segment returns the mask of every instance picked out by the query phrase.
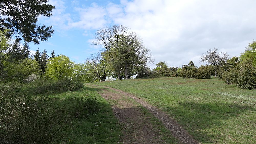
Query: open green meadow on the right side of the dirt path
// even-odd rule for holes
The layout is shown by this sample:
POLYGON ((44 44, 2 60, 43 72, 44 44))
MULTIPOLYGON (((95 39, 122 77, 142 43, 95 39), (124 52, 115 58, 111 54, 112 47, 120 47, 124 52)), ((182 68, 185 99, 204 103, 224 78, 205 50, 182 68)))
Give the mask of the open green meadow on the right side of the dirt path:
POLYGON ((256 90, 217 78, 154 78, 94 83, 117 88, 174 117, 201 143, 256 143, 256 90))

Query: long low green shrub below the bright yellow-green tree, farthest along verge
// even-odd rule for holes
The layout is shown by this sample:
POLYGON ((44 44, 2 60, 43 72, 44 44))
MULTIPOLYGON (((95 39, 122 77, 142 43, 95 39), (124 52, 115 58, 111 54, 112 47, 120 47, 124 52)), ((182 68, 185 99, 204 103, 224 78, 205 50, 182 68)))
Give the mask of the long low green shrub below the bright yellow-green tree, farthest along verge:
POLYGON ((78 79, 63 78, 57 81, 41 79, 27 84, 28 93, 49 94, 52 92, 74 91, 83 87, 83 83, 78 79))

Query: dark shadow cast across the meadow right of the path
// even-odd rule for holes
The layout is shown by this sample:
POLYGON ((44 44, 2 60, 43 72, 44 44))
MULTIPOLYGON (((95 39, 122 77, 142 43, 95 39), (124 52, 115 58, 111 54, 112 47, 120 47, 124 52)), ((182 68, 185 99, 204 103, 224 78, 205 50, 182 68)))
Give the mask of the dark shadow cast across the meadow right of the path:
POLYGON ((221 120, 237 117, 255 108, 248 105, 233 103, 195 103, 181 102, 177 107, 162 107, 165 111, 171 111, 179 123, 185 125, 187 130, 196 139, 203 143, 216 142, 221 135, 221 131, 204 132, 208 128, 219 129, 224 125, 221 120))

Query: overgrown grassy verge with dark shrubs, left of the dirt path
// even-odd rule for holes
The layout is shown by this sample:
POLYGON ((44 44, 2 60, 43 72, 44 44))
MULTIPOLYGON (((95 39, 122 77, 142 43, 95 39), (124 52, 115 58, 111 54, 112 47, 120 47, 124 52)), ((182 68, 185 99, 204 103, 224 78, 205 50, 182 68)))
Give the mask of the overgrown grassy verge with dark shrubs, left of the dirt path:
POLYGON ((67 82, 0 85, 0 143, 118 143, 121 125, 100 89, 67 82))

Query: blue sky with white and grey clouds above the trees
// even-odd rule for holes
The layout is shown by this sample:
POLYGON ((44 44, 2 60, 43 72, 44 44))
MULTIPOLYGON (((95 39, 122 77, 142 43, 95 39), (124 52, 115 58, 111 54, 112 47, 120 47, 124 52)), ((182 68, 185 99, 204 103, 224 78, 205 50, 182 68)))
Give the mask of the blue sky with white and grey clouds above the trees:
POLYGON ((159 61, 182 67, 192 60, 198 67, 207 50, 218 48, 230 57, 240 56, 256 39, 255 0, 50 0, 51 17, 38 23, 52 25, 55 33, 40 45, 47 53, 68 56, 83 63, 101 47, 91 45, 95 32, 103 27, 125 25, 142 38, 151 50, 155 68, 159 61))

